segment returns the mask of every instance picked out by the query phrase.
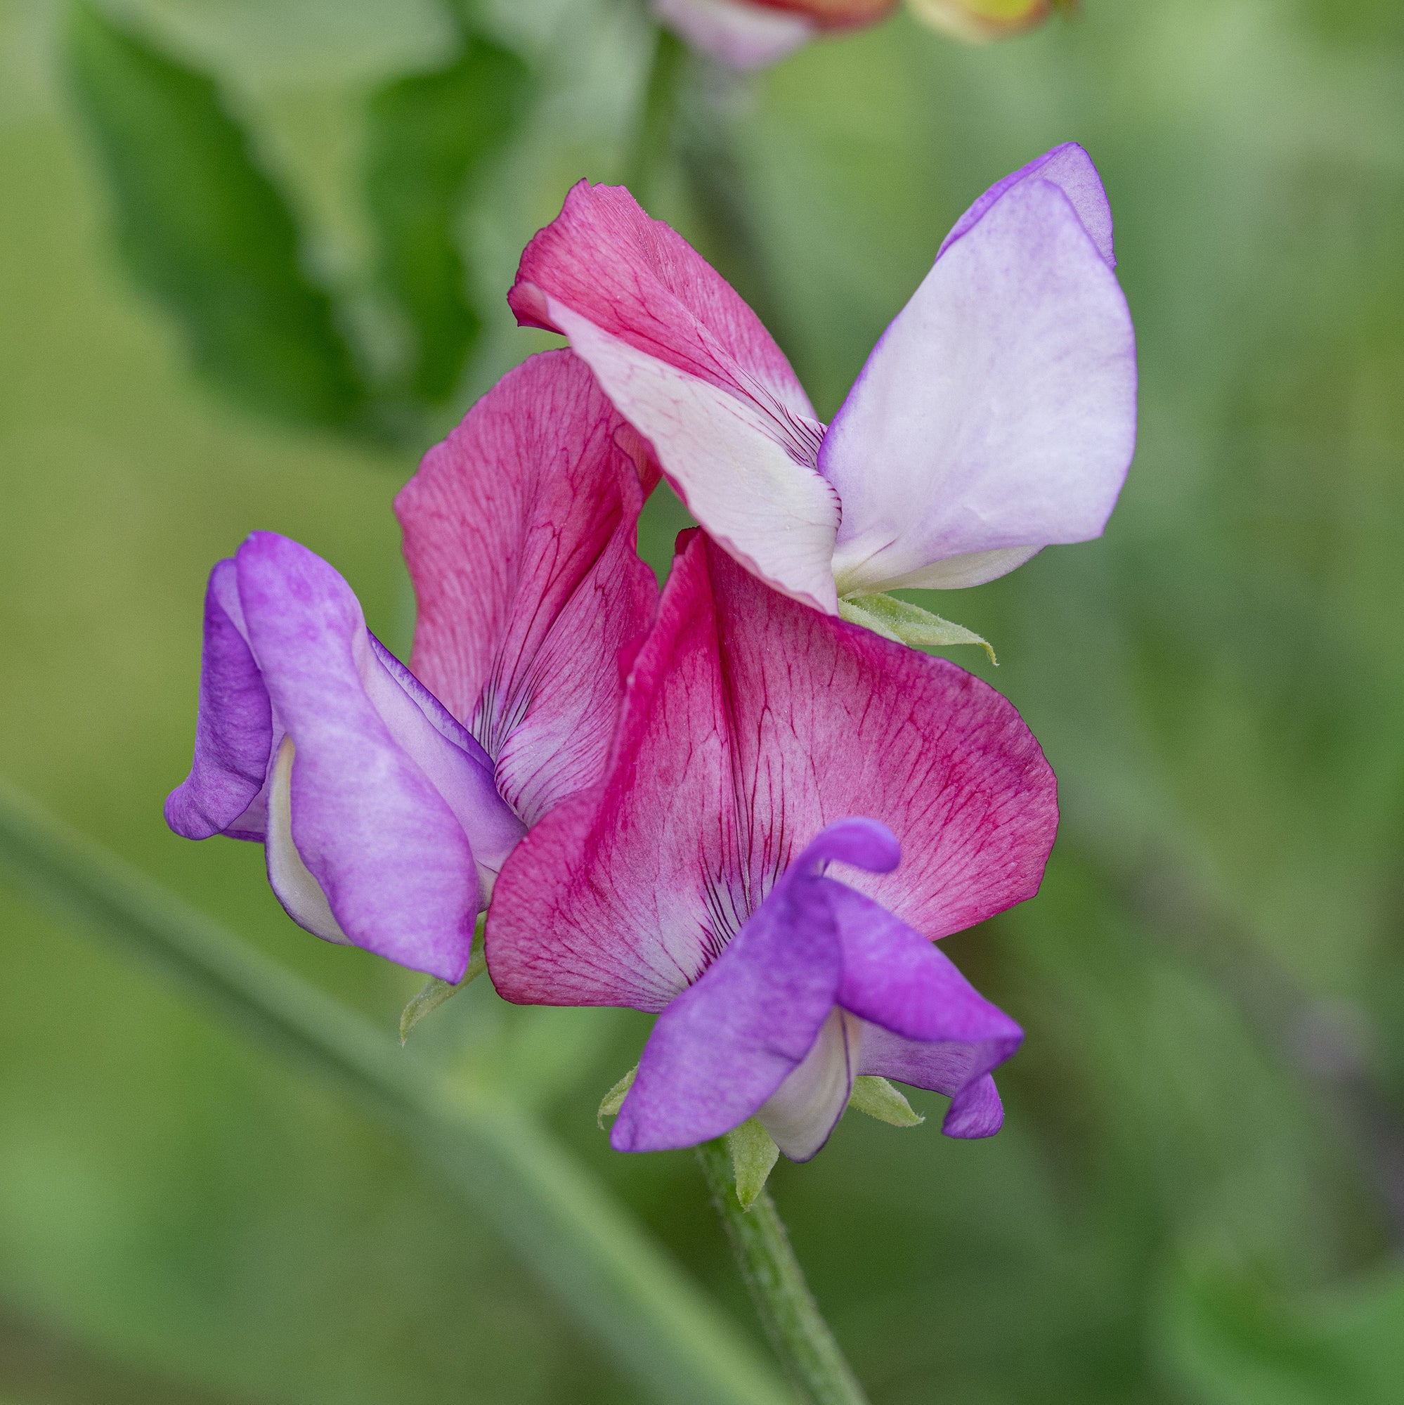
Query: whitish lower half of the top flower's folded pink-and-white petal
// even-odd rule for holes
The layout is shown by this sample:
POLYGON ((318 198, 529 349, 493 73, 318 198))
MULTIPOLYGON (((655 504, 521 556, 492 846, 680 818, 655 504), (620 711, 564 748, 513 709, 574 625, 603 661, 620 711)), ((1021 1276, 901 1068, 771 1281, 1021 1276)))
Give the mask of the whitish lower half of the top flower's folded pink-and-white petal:
POLYGON ((717 545, 776 590, 838 614, 839 504, 801 461, 805 426, 637 351, 554 299, 548 309, 717 545))

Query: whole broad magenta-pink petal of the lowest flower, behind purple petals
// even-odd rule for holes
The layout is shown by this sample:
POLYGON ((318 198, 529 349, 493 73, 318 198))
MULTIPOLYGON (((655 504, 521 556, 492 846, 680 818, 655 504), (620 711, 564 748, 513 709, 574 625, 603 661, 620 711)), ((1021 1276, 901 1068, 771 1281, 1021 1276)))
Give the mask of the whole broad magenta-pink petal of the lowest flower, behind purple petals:
POLYGON ((1032 896, 1057 828, 1019 714, 942 659, 770 592, 686 540, 604 783, 502 871, 488 961, 512 1000, 661 1010, 808 840, 871 815, 904 854, 845 875, 925 937, 1032 896))

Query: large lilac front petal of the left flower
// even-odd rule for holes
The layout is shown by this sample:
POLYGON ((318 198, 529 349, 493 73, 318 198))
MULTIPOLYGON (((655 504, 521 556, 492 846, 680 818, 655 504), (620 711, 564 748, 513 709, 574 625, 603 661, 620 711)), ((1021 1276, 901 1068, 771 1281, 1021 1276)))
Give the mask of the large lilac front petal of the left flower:
MULTIPOLYGON (((482 767, 385 673, 354 594, 326 562, 268 532, 249 538, 236 562, 249 643, 292 746, 288 829, 336 932, 402 965, 460 979, 479 877, 462 825, 412 750, 440 783, 458 769, 460 801, 479 785, 482 767), (392 724, 367 691, 365 677, 377 674, 405 710, 392 724)), ((275 787, 270 811, 277 808, 275 787)), ((306 913, 298 875, 284 868, 282 877, 290 910, 306 913)))

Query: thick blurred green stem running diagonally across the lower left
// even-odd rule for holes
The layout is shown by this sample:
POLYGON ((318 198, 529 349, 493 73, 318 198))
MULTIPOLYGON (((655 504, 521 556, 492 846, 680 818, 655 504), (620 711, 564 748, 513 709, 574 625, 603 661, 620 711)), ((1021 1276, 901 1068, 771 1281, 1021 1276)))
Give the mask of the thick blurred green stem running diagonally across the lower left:
POLYGON ((659 1401, 793 1405, 745 1336, 528 1114, 413 1052, 0 781, 0 868, 351 1093, 659 1401))

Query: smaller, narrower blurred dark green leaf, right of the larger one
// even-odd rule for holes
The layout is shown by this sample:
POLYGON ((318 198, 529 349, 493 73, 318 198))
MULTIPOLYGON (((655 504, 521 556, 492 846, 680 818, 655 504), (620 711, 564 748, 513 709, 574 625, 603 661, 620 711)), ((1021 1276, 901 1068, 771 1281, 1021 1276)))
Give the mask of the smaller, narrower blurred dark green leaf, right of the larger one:
POLYGON ((526 65, 462 28, 441 69, 386 84, 370 103, 365 200, 379 242, 379 280, 408 320, 415 350, 406 389, 447 400, 478 340, 458 215, 475 174, 516 128, 526 65))

